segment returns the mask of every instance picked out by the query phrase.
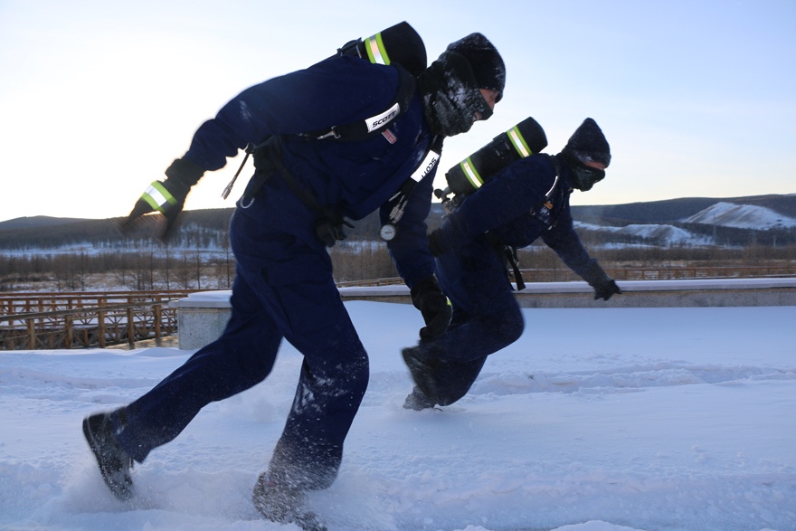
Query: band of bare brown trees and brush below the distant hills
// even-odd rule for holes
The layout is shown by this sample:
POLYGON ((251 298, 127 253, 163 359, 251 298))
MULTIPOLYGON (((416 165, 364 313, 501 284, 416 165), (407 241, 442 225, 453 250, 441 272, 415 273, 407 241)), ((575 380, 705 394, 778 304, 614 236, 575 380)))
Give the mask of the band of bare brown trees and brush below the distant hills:
MULTIPOLYGON (((709 266, 770 266, 796 261, 796 245, 723 247, 590 248, 606 269, 709 266)), ((397 277, 382 242, 342 242, 330 250, 335 280, 397 277)), ((518 251, 523 270, 561 270, 564 263, 544 245, 518 251)), ((128 252, 74 251, 61 254, 0 255, 0 291, 102 289, 230 289, 232 251, 141 249, 128 252)))

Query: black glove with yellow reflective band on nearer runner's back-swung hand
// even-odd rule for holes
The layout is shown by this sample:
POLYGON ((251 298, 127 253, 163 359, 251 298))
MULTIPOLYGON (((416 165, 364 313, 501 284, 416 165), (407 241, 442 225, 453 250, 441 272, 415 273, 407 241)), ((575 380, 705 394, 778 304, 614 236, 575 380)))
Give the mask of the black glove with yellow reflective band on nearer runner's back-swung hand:
POLYGON ((121 223, 122 232, 128 232, 144 214, 159 212, 166 217, 166 228, 159 235, 159 238, 165 241, 179 213, 183 211, 185 198, 191 191, 191 186, 195 185, 203 174, 204 170, 193 162, 185 158, 176 159, 166 169, 166 179, 149 185, 138 199, 128 218, 121 223))

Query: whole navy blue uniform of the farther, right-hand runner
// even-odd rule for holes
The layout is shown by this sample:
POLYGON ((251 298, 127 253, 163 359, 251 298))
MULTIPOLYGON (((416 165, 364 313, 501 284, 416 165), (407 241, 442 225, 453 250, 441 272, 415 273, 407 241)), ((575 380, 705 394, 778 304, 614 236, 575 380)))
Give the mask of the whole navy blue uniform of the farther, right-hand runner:
POLYGON ((492 176, 442 223, 441 240, 452 251, 437 258, 437 276, 453 306, 453 319, 429 345, 442 362, 435 371, 437 403, 459 400, 487 356, 522 334, 503 246, 526 247, 541 237, 575 273, 584 276, 599 267, 574 232, 572 191, 566 165, 545 155, 529 156, 492 176), (554 185, 555 166, 560 172, 554 185))

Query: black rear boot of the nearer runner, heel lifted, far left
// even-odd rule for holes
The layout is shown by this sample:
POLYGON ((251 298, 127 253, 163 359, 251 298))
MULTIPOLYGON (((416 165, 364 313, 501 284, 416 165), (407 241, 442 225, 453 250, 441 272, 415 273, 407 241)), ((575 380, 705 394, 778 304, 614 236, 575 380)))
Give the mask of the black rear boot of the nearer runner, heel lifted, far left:
POLYGON ((83 419, 83 435, 100 465, 105 484, 114 496, 127 501, 133 496, 133 480, 130 478, 133 460, 116 439, 110 413, 97 413, 83 419))

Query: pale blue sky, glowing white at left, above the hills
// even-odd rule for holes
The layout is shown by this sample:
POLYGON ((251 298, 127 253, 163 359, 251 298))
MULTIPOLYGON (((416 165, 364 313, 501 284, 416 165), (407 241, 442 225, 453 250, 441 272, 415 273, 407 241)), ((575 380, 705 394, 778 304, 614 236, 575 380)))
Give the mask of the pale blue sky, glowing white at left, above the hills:
MULTIPOLYGON (((796 0, 0 0, 0 221, 126 215, 238 92, 403 20, 430 61, 479 31, 507 62, 441 175, 527 116, 550 153, 592 117, 613 162, 573 204, 796 193, 796 0)), ((241 159, 187 208, 232 206, 241 159)))

